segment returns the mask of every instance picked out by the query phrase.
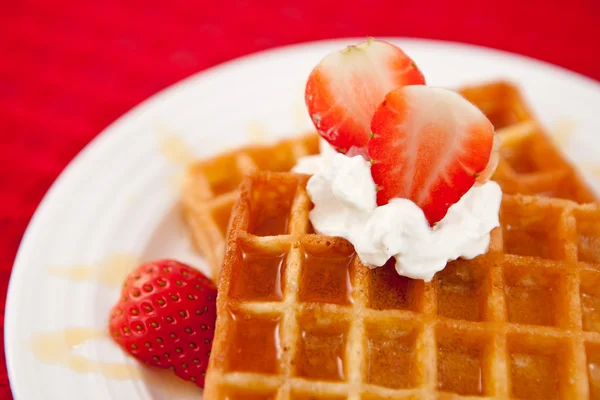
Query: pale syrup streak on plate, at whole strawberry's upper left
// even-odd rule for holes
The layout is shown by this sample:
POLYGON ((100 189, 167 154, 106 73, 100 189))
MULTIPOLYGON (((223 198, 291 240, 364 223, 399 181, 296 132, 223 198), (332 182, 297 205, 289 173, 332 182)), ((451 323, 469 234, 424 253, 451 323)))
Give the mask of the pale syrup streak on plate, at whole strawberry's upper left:
POLYGON ((116 253, 98 264, 82 264, 70 267, 50 265, 46 268, 46 273, 71 281, 92 281, 107 286, 119 287, 129 271, 135 268, 139 262, 140 259, 133 254, 116 253))

